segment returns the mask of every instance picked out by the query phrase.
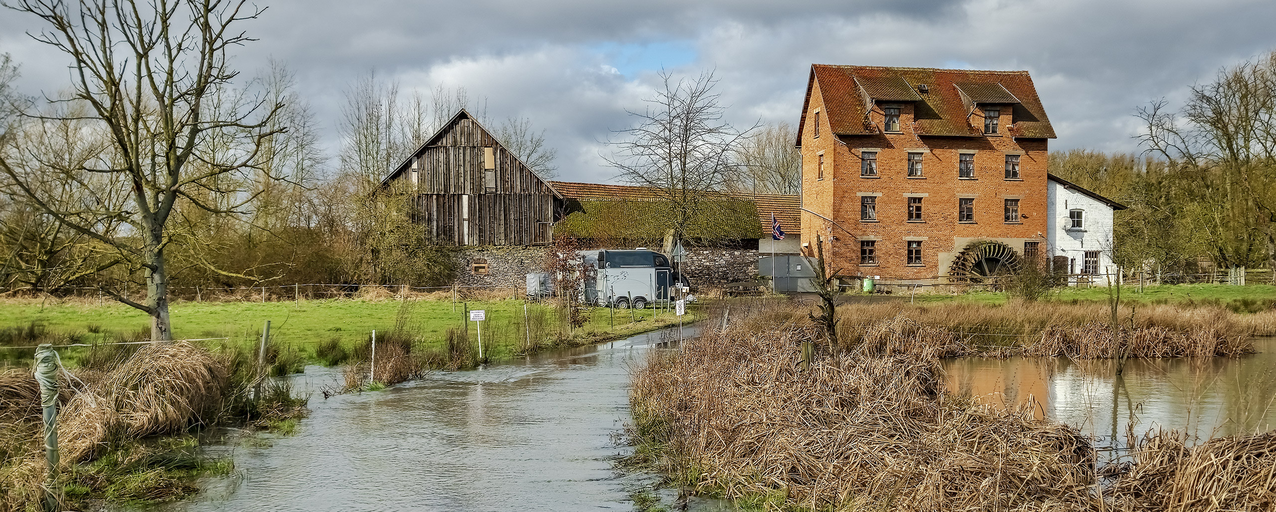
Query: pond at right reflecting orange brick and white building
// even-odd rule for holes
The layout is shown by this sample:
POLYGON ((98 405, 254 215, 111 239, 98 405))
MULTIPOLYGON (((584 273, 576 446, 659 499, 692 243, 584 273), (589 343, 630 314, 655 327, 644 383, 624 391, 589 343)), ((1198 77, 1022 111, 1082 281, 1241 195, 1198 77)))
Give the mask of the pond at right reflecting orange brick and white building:
POLYGON ((1096 438, 1123 441, 1127 429, 1183 429, 1206 439, 1271 430, 1276 422, 1276 340, 1258 354, 1215 359, 1128 359, 1123 377, 1113 360, 1055 358, 944 362, 953 392, 998 405, 1032 396, 1039 418, 1079 427, 1096 438))

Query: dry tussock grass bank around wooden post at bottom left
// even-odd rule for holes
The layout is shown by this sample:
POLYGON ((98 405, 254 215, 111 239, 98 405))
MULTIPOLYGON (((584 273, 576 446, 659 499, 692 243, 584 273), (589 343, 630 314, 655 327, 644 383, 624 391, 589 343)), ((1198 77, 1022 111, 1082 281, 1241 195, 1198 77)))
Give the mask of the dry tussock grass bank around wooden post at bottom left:
MULTIPOLYGON (((283 383, 265 383, 254 396, 255 354, 235 345, 114 346, 112 357, 61 372, 57 509, 194 493, 195 476, 231 469, 228 460, 199 453, 200 432, 269 428, 306 413, 306 399, 283 383)), ((40 386, 29 369, 0 373, 0 511, 41 509, 46 461, 40 386)))

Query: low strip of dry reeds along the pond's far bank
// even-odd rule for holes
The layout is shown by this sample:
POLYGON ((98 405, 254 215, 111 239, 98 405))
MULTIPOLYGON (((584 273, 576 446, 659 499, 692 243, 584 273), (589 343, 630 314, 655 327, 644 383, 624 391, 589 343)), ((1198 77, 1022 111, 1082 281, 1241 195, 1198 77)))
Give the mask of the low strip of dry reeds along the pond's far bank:
MULTIPOLYGON (((1253 352, 1252 326, 1242 317, 1215 306, 1122 307, 1119 339, 1134 358, 1240 355, 1253 352)), ((838 343, 926 357, 1114 358, 1110 318, 1108 306, 1090 303, 846 304, 840 307, 838 343)))

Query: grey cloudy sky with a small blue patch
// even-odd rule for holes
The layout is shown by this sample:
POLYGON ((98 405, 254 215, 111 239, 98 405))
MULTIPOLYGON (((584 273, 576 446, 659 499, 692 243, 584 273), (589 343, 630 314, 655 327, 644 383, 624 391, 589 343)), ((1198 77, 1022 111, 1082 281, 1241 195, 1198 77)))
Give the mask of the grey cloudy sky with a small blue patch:
MULTIPOLYGON (((796 124, 809 66, 1028 70, 1059 139, 1051 149, 1137 150, 1134 108, 1276 48, 1271 0, 385 1, 263 0, 237 50, 253 73, 285 62, 339 146, 342 92, 375 70, 403 89, 464 87, 493 118, 526 116, 558 148, 560 178, 606 182, 600 144, 632 124, 657 71, 715 69, 741 124, 796 124)), ((0 15, 19 87, 54 93, 65 59, 0 15)), ((336 160, 334 160, 336 162, 336 160)))

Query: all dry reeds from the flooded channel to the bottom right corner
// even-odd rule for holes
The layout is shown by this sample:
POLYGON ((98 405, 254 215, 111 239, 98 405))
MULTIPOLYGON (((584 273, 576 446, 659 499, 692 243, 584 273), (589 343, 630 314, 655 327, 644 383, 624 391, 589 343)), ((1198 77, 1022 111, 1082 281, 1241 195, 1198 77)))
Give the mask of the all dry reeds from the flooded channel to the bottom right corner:
POLYGON ((829 348, 750 315, 633 373, 629 464, 766 511, 1267 511, 1272 433, 1131 439, 1100 465, 1073 427, 948 395, 933 355, 829 348), (808 363, 803 363, 803 360, 808 363))

